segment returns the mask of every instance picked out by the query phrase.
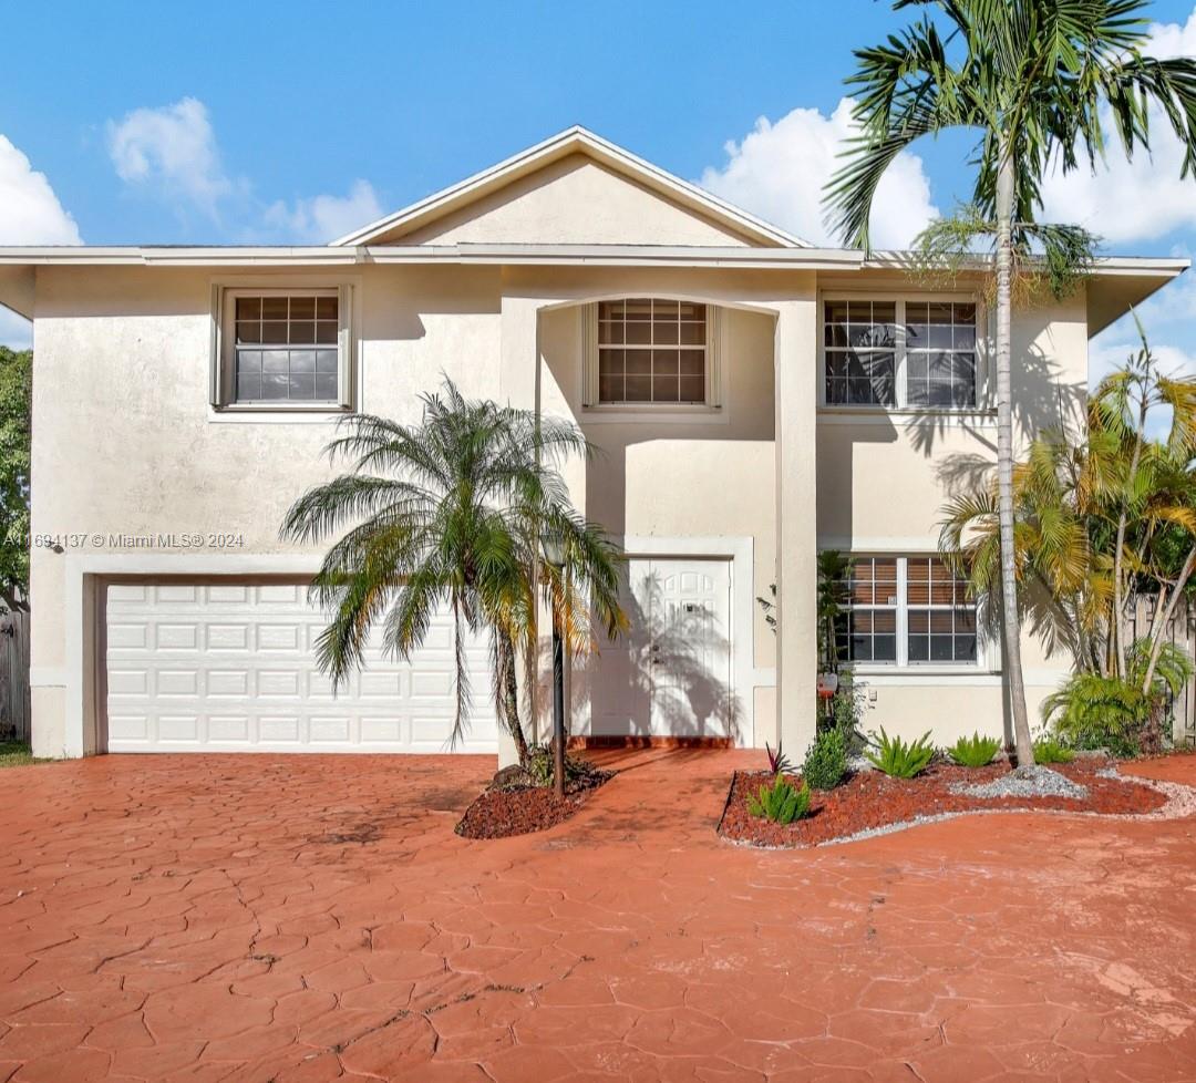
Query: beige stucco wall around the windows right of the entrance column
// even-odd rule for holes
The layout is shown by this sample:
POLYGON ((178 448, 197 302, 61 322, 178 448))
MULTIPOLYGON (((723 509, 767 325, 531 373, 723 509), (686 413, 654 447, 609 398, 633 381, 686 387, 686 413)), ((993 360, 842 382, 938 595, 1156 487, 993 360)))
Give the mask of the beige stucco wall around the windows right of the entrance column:
MULTIPOLYGON (((835 288, 842 283, 835 282, 835 288)), ((875 288, 892 288, 877 280, 875 288)), ((991 379, 991 372, 988 373, 991 379)), ((1087 387, 1087 325, 1082 294, 1039 302, 1014 316, 1013 398, 1018 443, 1030 434, 1074 421, 1072 406, 1087 387), (1072 404, 1072 405, 1064 405, 1072 404)), ((823 410, 818 429, 818 538, 824 547, 858 552, 933 552, 948 496, 970 491, 996 461, 993 414, 969 416, 823 410)), ((866 724, 917 736, 927 729, 950 744, 975 729, 1001 734, 1008 723, 999 650, 988 644, 986 672, 861 671, 868 685, 866 724)), ((1031 724, 1041 703, 1064 678, 1066 654, 1050 656, 1042 638, 1023 636, 1031 724)))

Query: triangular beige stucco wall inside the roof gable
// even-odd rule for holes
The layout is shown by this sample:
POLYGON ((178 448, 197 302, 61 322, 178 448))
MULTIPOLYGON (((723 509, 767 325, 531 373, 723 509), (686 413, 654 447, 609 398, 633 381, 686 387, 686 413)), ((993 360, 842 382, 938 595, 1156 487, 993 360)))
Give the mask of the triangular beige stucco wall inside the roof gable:
POLYGON ((570 154, 398 237, 397 244, 745 245, 718 222, 570 154))

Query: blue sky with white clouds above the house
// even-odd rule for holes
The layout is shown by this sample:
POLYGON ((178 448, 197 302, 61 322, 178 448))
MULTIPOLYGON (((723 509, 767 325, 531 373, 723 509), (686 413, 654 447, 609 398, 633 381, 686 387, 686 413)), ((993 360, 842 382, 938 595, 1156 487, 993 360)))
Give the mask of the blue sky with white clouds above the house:
MULTIPOLYGON (((850 50, 887 2, 19 5, 0 96, 0 244, 315 243, 573 123, 814 241, 850 50), (38 176, 42 175, 42 176, 38 176)), ((1194 0, 1158 0, 1158 50, 1196 55, 1194 0)), ((901 244, 966 196, 966 143, 923 142, 881 192, 901 244)), ((1048 185, 1111 251, 1196 251, 1196 182, 1154 161, 1048 185)), ((1051 213, 1052 212, 1052 213, 1051 213)), ((1196 371, 1196 275, 1148 305, 1196 371)), ((1097 367, 1131 342, 1102 336, 1097 367)), ((28 342, 0 312, 0 341, 28 342)))

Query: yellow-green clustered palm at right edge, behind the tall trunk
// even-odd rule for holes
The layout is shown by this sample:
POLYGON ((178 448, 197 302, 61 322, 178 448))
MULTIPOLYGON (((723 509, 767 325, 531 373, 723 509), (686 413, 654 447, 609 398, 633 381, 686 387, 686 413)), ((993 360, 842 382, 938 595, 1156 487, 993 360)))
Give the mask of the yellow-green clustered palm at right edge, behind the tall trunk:
MULTIPOLYGON (((1014 552, 1021 594, 1076 671, 1133 681, 1149 699, 1166 628, 1196 568, 1196 378, 1167 377, 1146 338, 1100 381, 1079 438, 1066 426, 1037 436, 1013 467, 1014 552), (1170 415, 1151 439, 1154 414, 1170 415), (1039 587, 1041 591, 1026 589, 1039 587), (1128 643, 1136 595, 1155 595, 1147 635, 1128 643)), ((980 596, 1000 593, 997 497, 953 497, 940 544, 980 596)))

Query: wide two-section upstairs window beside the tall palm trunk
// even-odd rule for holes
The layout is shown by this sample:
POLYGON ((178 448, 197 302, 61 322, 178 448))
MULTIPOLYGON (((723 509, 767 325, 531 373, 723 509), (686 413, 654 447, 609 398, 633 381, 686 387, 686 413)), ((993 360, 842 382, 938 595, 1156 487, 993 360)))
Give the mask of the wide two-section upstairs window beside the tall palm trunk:
POLYGON ((976 311, 958 300, 824 301, 826 403, 975 406, 976 311))

